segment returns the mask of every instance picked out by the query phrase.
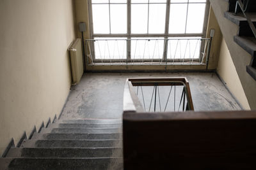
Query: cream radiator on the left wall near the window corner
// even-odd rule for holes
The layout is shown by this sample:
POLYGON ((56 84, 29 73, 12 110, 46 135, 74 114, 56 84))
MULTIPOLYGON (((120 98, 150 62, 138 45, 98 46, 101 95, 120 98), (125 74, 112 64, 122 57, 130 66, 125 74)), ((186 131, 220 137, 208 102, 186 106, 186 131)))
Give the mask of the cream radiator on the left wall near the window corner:
POLYGON ((74 40, 68 50, 70 52, 72 84, 77 84, 81 80, 84 71, 81 39, 74 40))

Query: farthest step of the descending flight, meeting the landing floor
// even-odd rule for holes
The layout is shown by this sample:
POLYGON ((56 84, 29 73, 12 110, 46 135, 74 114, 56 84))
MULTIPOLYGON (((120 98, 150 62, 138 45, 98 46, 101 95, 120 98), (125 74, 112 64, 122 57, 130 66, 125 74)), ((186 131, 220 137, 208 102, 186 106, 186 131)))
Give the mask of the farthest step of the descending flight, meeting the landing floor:
POLYGON ((60 119, 59 124, 122 124, 122 119, 60 119))

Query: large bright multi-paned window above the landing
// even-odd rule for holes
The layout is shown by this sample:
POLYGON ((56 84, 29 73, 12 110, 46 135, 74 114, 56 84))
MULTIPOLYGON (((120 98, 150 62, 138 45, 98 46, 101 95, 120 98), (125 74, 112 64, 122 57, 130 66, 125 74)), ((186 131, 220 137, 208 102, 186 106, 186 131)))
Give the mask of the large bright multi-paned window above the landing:
POLYGON ((208 0, 88 2, 91 38, 109 39, 94 42, 94 59, 163 60, 200 56, 202 42, 196 39, 205 37, 208 0), (166 43, 164 39, 171 40, 166 43))

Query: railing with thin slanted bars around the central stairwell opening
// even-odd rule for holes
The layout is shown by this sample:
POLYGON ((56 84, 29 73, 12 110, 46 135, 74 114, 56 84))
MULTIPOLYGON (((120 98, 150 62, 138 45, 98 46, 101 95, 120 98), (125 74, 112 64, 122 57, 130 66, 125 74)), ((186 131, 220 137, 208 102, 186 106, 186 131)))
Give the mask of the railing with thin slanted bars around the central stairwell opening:
POLYGON ((186 78, 129 78, 124 111, 165 112, 194 110, 186 78))

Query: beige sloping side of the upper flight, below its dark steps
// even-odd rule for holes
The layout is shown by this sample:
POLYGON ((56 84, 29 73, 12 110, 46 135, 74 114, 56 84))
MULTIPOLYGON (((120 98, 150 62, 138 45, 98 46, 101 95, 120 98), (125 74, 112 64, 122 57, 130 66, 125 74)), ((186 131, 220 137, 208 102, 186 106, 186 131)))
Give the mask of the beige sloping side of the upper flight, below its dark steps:
POLYGON ((244 94, 248 100, 250 108, 256 110, 256 81, 246 72, 246 66, 250 64, 252 56, 241 46, 234 42, 239 27, 224 17, 224 12, 228 9, 228 2, 223 0, 210 0, 214 14, 220 25, 223 38, 227 43, 231 58, 236 67, 239 80, 244 89, 244 94))

